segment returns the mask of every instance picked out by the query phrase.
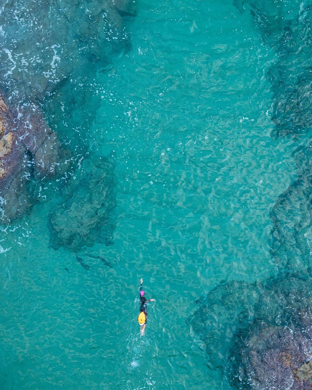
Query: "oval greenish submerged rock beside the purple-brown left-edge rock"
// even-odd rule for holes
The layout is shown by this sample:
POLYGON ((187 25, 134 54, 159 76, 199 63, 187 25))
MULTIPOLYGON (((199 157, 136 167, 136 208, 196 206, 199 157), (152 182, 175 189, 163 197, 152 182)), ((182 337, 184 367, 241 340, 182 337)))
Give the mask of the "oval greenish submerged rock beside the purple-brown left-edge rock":
POLYGON ((111 161, 84 161, 76 180, 64 190, 65 202, 50 215, 51 245, 72 250, 105 241, 110 235, 110 215, 115 207, 115 176, 111 161))

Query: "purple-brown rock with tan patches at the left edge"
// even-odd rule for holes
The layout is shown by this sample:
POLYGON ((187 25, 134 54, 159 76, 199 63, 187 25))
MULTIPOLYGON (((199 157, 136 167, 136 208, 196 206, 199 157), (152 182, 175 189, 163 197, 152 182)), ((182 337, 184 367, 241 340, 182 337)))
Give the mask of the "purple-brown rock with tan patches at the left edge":
POLYGON ((35 105, 15 108, 0 97, 0 130, 1 222, 7 223, 34 204, 31 179, 63 172, 69 152, 62 149, 35 105))

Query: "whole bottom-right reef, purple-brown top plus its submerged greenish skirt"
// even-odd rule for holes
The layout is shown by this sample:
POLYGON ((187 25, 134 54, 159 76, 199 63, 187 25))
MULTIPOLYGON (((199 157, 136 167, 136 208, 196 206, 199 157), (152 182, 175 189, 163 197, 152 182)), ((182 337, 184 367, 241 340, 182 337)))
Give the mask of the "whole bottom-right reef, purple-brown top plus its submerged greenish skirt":
POLYGON ((243 390, 312 388, 312 280, 283 275, 229 282, 196 301, 188 319, 209 365, 243 390))

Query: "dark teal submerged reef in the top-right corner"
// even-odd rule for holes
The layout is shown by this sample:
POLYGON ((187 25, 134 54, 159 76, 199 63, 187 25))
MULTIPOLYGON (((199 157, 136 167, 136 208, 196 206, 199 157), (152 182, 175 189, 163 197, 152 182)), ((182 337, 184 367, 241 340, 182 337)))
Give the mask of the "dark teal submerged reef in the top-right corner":
POLYGON ((291 2, 277 6, 266 0, 234 0, 234 4, 240 12, 249 10, 262 42, 272 53, 266 73, 273 93, 272 135, 307 133, 312 126, 312 5, 305 1, 296 9, 291 2))

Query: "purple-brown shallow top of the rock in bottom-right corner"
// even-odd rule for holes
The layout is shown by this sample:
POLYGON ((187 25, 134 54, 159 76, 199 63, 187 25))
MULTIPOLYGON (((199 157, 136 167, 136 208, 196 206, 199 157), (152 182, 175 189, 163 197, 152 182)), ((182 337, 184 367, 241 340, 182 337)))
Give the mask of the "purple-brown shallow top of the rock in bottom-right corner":
POLYGON ((293 330, 268 326, 247 339, 241 351, 243 384, 252 390, 312 389, 311 320, 293 330))

